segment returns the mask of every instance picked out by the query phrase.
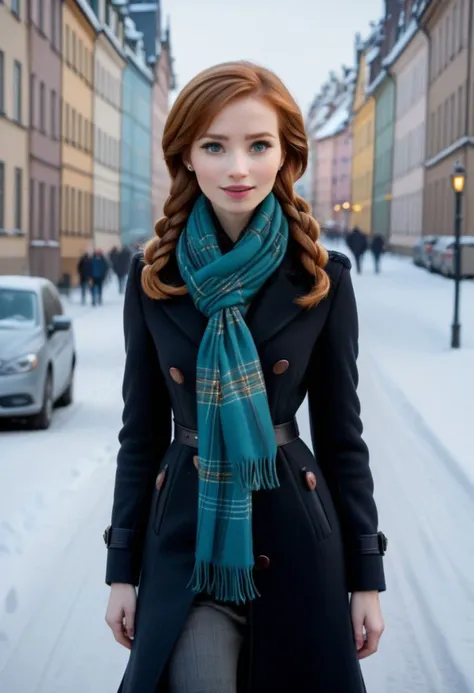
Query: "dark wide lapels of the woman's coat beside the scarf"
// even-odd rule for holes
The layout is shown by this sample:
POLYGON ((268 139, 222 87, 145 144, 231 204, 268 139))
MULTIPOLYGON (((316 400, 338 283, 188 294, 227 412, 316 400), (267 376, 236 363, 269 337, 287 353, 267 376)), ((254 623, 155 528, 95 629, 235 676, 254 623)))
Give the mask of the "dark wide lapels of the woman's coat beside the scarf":
MULTIPOLYGON (((183 283, 177 265, 173 268, 173 282, 183 283)), ((295 299, 307 293, 310 286, 308 277, 295 270, 289 249, 280 266, 253 298, 245 317, 257 348, 305 310, 295 299)), ((207 318, 197 310, 190 295, 160 301, 160 304, 177 329, 199 347, 207 318)))

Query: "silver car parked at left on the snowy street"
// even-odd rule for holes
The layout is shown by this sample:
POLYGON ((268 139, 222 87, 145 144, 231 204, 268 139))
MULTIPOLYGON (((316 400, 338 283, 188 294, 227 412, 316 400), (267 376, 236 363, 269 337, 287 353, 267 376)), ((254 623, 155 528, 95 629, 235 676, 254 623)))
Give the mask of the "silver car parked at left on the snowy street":
POLYGON ((48 428, 54 404, 72 403, 75 365, 72 321, 54 284, 0 276, 0 417, 48 428))

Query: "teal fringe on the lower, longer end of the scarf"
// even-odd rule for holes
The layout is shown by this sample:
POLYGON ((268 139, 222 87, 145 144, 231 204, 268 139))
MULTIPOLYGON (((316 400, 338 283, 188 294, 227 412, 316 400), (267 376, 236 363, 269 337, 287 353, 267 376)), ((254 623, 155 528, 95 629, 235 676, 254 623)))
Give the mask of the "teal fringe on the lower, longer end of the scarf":
POLYGON ((260 597, 253 579, 253 566, 235 568, 196 561, 188 587, 193 592, 207 592, 218 601, 235 604, 260 597))

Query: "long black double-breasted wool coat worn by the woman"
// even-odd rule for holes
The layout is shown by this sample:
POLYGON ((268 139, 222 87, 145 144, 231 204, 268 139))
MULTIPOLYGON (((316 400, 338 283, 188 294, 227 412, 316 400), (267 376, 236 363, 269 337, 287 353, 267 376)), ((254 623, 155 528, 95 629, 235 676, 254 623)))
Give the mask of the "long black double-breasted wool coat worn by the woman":
MULTIPOLYGON (((261 596, 248 607, 239 693, 362 693, 348 593, 382 591, 385 581, 382 555, 363 545, 378 520, 356 392, 350 261, 330 253, 329 296, 308 310, 294 303, 311 286, 296 251, 290 239, 245 319, 274 424, 292 419, 307 394, 313 451, 300 438, 279 447, 280 487, 253 494, 254 552, 267 558, 255 572, 261 596)), ((197 450, 172 440, 172 416, 197 427, 196 360, 206 318, 189 294, 149 299, 142 266, 135 256, 125 296, 125 406, 106 582, 138 585, 119 693, 166 693, 167 662, 195 599, 188 583, 198 497, 197 450)), ((168 282, 182 283, 175 258, 163 271, 168 282)))

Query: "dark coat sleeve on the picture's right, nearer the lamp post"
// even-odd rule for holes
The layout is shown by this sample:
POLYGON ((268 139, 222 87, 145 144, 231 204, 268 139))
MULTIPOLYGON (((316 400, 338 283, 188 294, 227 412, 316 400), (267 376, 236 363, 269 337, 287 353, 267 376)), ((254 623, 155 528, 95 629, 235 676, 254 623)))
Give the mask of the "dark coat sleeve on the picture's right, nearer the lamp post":
POLYGON ((311 437, 340 520, 348 590, 384 591, 382 555, 364 553, 364 540, 376 539, 378 514, 357 394, 357 307, 348 266, 334 264, 339 281, 310 365, 311 437))

